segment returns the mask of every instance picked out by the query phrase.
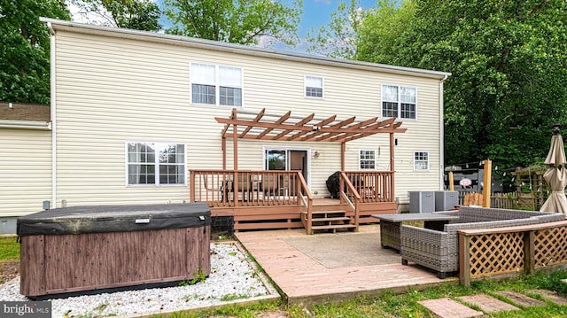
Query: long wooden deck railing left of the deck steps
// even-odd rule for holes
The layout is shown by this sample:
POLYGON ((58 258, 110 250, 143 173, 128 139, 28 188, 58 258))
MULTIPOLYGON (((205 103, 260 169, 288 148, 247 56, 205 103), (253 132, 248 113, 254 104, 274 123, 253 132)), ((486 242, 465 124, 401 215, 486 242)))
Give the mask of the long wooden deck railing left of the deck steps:
POLYGON ((211 207, 297 206, 300 171, 190 170, 190 201, 211 207))

